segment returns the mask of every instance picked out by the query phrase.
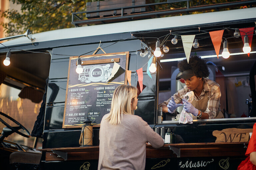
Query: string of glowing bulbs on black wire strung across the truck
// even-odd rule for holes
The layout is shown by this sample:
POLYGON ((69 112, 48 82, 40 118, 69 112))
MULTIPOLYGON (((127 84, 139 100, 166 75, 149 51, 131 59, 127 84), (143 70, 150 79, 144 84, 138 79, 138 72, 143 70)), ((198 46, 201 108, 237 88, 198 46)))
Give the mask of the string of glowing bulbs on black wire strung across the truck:
MULTIPOLYGON (((199 36, 199 35, 203 35, 203 34, 210 34, 209 31, 211 30, 215 30, 216 29, 207 29, 207 30, 201 30, 200 27, 198 27, 198 30, 189 30, 189 31, 177 31, 177 32, 172 32, 170 30, 170 33, 169 34, 166 34, 164 36, 161 36, 161 37, 136 37, 137 39, 140 39, 141 40, 141 49, 138 50, 140 51, 140 56, 141 57, 145 57, 149 52, 149 55, 148 55, 148 58, 152 58, 152 63, 150 65, 150 68, 149 68, 149 71, 150 72, 155 72, 156 71, 156 57, 160 57, 160 56, 164 56, 164 54, 162 54, 161 52, 161 49, 163 50, 164 53, 167 53, 169 52, 169 47, 166 46, 166 42, 167 41, 170 41, 169 38, 171 36, 174 36, 172 39, 171 39, 171 43, 172 44, 177 44, 178 43, 178 38, 182 38, 182 36, 185 36, 187 33, 195 33, 195 32, 199 32, 198 34, 193 34, 195 37, 196 36, 199 36), (163 38, 163 40, 161 41, 161 39, 163 38), (146 43, 143 42, 143 39, 156 39, 156 46, 155 46, 155 50, 152 49, 152 47, 148 46, 146 43), (161 43, 160 43, 161 41, 161 43), (144 46, 144 48, 143 48, 144 46), (149 52, 148 52, 149 50, 149 52)), ((221 56, 223 58, 228 58, 230 56, 230 53, 228 51, 228 40, 229 39, 232 39, 232 38, 239 38, 239 37, 243 37, 244 38, 244 46, 243 46, 243 51, 244 53, 250 53, 251 52, 251 47, 249 45, 249 39, 248 39, 248 36, 252 36, 252 35, 256 35, 256 30, 254 29, 253 31, 249 31, 249 32, 244 32, 240 29, 237 29, 237 28, 222 28, 220 30, 235 30, 234 32, 234 36, 233 37, 223 37, 222 36, 222 39, 224 39, 224 42, 223 42, 223 51, 222 51, 222 54, 221 56), (244 35, 241 35, 240 32, 243 32, 244 35), (251 32, 255 32, 255 34, 249 34, 251 32)), ((220 31, 220 30, 217 30, 217 31, 220 31)), ((126 41, 126 40, 129 40, 129 39, 132 39, 133 38, 133 35, 131 35, 132 37, 130 38, 127 38, 127 39, 124 39, 124 40, 120 40, 120 41, 117 41, 117 42, 114 42, 110 45, 107 45, 105 47, 101 47, 101 49, 103 48, 107 48, 111 45, 114 45, 118 42, 122 42, 122 41, 126 41)), ((205 38, 201 38, 201 39, 194 39, 194 42, 193 42, 193 47, 194 48, 198 48, 199 47, 199 42, 200 40, 202 39, 206 39, 206 38, 210 38, 209 37, 205 37, 205 38)), ((5 46, 4 44, 0 43, 1 45, 5 46)), ((83 71, 83 68, 82 68, 82 61, 81 61, 81 56, 82 55, 85 55, 85 54, 88 54, 90 52, 93 52, 95 50, 92 50, 92 51, 89 51, 89 52, 86 52, 86 53, 83 53, 81 55, 67 55, 67 54, 55 54, 55 53, 47 53, 47 52, 40 52, 40 51, 31 51, 31 50, 23 50, 23 49, 16 49, 16 48, 9 48, 8 46, 5 46, 6 48, 9 49, 9 51, 7 52, 6 54, 6 58, 5 60, 3 61, 4 65, 8 66, 10 65, 10 56, 11 56, 11 50, 20 50, 20 51, 25 51, 25 52, 31 52, 31 53, 44 53, 44 54, 51 54, 51 55, 62 55, 62 56, 77 56, 78 59, 77 59, 77 73, 80 73, 83 71)), ((145 66, 147 63, 145 63, 143 66, 145 66)), ((124 68, 123 68, 124 69, 124 68)), ((136 71, 136 70, 131 70, 131 71, 136 71)))

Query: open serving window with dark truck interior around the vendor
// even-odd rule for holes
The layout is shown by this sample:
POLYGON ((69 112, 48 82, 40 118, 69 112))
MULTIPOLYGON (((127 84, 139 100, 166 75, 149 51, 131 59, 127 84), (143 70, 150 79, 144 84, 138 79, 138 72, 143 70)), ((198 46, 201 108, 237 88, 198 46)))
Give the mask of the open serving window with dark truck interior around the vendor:
MULTIPOLYGON (((224 114, 224 118, 234 118, 237 120, 244 120, 244 118, 254 119, 249 118, 252 104, 249 73, 256 61, 256 38, 254 34, 252 36, 251 53, 248 56, 242 49, 245 36, 241 34, 241 37, 234 37, 236 29, 243 30, 245 28, 254 29, 250 32, 254 34, 254 21, 248 19, 240 23, 230 21, 218 24, 189 26, 187 28, 169 28, 153 32, 133 32, 133 36, 144 42, 152 51, 156 48, 156 40, 159 40, 161 43, 160 48, 164 55, 158 58, 159 64, 161 65, 161 67, 158 67, 159 91, 156 92, 158 104, 167 101, 177 90, 182 89, 185 85, 184 80, 176 80, 176 77, 181 74, 177 68, 177 64, 180 60, 186 59, 186 50, 184 49, 181 37, 185 35, 195 35, 194 39, 197 39, 199 47, 195 48, 193 46, 189 56, 197 55, 206 60, 210 71, 208 78, 220 85, 220 109, 224 114), (217 58, 216 49, 209 32, 220 30, 224 31, 220 39, 220 55, 217 58), (172 42, 172 39, 177 35, 178 42, 175 44, 172 42), (157 39, 155 39, 155 37, 157 39), (225 41, 228 42, 229 58, 223 58, 221 55, 225 41), (169 47, 169 51, 166 53, 163 52, 163 44, 169 47)), ((249 35, 249 32, 246 33, 246 35, 247 34, 249 35)), ((179 107, 177 111, 181 113, 182 106, 179 107)), ((172 115, 169 118, 164 118, 164 121, 172 121, 171 123, 178 123, 177 120, 179 120, 179 114, 177 114, 177 116, 172 115)), ((217 119, 211 121, 217 121, 217 119)))

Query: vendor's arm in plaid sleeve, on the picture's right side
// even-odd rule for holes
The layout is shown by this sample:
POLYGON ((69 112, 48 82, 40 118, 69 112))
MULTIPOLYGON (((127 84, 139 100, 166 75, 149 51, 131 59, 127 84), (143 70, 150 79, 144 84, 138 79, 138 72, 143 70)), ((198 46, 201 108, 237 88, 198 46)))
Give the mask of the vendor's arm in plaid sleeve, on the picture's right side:
POLYGON ((204 113, 202 113, 202 119, 215 119, 216 113, 218 112, 219 105, 220 105, 220 87, 218 86, 215 89, 215 92, 212 94, 212 96, 209 98, 207 103, 207 108, 204 113, 208 114, 208 118, 203 118, 203 115, 207 117, 204 113))

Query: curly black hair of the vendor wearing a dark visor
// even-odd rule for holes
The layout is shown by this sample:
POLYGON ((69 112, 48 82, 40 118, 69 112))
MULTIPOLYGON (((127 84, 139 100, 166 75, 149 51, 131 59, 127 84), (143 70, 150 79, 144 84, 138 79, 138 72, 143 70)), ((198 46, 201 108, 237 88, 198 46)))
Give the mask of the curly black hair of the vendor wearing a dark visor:
POLYGON ((187 62, 187 59, 181 60, 178 63, 178 68, 180 72, 191 69, 199 77, 208 77, 210 74, 206 61, 197 55, 191 56, 189 58, 189 63, 187 62))

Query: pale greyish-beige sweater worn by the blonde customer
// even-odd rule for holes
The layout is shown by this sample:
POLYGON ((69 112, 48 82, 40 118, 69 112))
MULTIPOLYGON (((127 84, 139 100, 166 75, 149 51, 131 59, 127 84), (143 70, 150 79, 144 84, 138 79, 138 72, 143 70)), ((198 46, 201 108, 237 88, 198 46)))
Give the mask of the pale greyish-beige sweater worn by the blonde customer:
POLYGON ((111 125, 103 116, 100 123, 100 151, 98 170, 144 170, 146 142, 159 148, 162 137, 136 115, 123 115, 121 123, 111 125))

